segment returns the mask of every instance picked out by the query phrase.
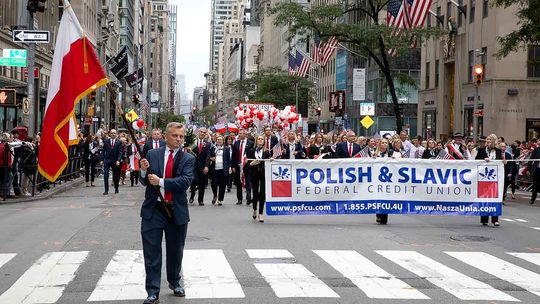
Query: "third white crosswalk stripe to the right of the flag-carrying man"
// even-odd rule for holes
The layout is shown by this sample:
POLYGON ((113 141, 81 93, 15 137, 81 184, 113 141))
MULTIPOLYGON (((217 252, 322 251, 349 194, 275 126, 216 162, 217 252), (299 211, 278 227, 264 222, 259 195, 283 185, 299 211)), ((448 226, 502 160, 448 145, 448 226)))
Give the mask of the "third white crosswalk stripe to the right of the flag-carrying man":
POLYGON ((353 250, 314 250, 370 298, 429 299, 353 250))

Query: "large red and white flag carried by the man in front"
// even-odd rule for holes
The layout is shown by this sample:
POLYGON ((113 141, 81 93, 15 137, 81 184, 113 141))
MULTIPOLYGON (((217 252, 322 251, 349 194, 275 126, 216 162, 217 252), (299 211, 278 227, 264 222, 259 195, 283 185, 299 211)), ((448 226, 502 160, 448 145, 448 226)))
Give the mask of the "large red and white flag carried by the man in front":
POLYGON ((64 0, 56 39, 39 148, 39 172, 54 182, 68 164, 69 145, 77 142, 75 106, 109 82, 94 47, 64 0))

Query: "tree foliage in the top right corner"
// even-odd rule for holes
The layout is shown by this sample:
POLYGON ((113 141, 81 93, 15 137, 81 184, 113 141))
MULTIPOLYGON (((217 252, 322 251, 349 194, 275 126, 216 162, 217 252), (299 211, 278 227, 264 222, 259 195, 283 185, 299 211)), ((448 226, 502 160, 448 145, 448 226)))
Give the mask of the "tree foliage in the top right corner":
POLYGON ((493 0, 493 5, 505 9, 513 5, 518 7, 518 29, 497 38, 501 45, 497 52, 499 58, 519 49, 526 49, 529 45, 540 44, 540 0, 493 0))

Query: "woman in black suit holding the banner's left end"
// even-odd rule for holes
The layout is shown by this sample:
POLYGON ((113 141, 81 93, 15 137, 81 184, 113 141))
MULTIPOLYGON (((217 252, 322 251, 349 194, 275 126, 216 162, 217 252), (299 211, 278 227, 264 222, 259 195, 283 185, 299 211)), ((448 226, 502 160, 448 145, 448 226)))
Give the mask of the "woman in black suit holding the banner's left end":
POLYGON ((256 146, 247 151, 248 159, 252 159, 248 163, 253 181, 253 219, 258 218, 259 223, 264 223, 262 214, 266 202, 264 161, 261 160, 270 159, 270 151, 265 148, 265 141, 265 136, 257 136, 256 146), (259 210, 258 215, 257 209, 259 210))

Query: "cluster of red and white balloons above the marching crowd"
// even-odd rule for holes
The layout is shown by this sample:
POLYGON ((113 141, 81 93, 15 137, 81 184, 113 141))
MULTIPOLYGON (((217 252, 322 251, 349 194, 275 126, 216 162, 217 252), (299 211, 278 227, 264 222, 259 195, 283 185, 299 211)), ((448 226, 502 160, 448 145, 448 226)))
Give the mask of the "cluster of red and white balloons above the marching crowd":
POLYGON ((236 125, 244 129, 249 129, 258 122, 263 125, 287 129, 289 125, 300 120, 295 106, 286 106, 283 110, 271 106, 268 111, 258 110, 254 106, 246 108, 237 106, 233 111, 236 117, 236 125))

